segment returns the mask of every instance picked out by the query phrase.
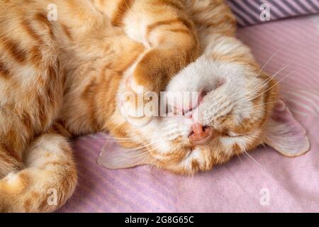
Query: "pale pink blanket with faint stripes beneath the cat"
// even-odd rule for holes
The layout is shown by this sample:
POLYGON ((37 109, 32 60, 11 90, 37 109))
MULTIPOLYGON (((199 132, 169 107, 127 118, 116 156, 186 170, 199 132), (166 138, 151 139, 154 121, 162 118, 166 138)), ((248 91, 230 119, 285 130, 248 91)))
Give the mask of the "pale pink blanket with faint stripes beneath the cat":
POLYGON ((286 104, 310 138, 306 155, 288 158, 261 147, 252 157, 184 177, 147 166, 103 169, 96 160, 106 135, 86 136, 74 143, 79 185, 60 211, 318 212, 319 16, 241 28, 238 36, 261 65, 274 55, 265 67, 270 74, 286 65, 277 79, 286 104))

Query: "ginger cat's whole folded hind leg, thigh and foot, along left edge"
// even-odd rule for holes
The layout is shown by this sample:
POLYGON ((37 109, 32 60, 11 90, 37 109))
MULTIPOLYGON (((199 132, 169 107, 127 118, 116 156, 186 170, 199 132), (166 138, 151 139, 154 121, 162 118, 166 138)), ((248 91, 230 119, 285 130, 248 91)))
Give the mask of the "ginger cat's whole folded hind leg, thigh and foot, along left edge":
POLYGON ((64 81, 57 22, 38 13, 40 2, 1 1, 0 211, 52 211, 57 206, 45 204, 47 189, 57 189, 60 205, 76 181, 66 140, 38 137, 60 112, 64 81))

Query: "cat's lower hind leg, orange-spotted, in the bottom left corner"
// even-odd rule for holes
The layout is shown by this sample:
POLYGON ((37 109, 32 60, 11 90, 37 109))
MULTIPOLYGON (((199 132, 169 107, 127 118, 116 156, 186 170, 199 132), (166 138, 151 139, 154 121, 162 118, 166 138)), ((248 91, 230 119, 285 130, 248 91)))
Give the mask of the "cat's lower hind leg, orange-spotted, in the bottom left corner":
POLYGON ((49 212, 65 204, 77 185, 67 139, 57 133, 36 138, 26 150, 25 168, 0 180, 1 212, 49 212))

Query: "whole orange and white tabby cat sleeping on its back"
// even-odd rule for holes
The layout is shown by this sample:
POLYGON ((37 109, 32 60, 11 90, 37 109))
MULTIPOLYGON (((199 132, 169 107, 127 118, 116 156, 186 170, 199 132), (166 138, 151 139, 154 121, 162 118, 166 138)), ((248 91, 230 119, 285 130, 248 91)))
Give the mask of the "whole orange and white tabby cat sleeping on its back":
POLYGON ((123 145, 104 154, 106 167, 183 174, 262 143, 290 156, 308 150, 276 82, 234 38, 223 1, 0 4, 0 211, 65 204, 77 184, 67 139, 87 133, 108 131, 123 145), (135 101, 122 99, 164 90, 199 96, 187 109, 170 106, 184 114, 172 117, 135 116, 135 101))

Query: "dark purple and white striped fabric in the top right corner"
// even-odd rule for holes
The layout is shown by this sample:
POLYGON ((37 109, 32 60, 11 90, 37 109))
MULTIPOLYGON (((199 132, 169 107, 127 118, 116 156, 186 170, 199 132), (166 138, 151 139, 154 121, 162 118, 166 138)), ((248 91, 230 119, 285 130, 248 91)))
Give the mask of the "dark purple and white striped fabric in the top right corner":
POLYGON ((319 0, 228 0, 228 4, 240 26, 265 22, 260 18, 262 4, 269 6, 270 21, 319 12, 319 0))

